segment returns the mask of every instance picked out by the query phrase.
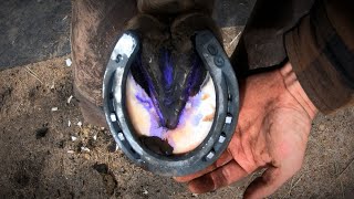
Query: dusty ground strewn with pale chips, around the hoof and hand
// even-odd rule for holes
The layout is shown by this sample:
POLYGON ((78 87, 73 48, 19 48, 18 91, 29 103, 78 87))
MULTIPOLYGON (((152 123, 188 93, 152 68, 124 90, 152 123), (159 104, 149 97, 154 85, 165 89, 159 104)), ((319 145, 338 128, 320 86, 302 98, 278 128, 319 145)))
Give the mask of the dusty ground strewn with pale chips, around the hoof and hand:
MULTIPOLYGON (((17 6, 15 3, 24 1, 11 2, 17 6)), ((34 10, 44 7, 43 1, 34 2, 38 3, 37 7, 31 3, 28 7, 33 7, 34 10)), ((63 2, 69 1, 53 0, 52 7, 45 8, 56 10, 58 19, 66 20, 65 13, 67 9, 70 11, 70 7, 66 10, 54 7, 63 2)), ((237 10, 239 14, 235 18, 219 17, 218 21, 222 27, 236 24, 225 29, 225 46, 232 50, 246 23, 244 15, 251 3, 239 0, 236 10, 230 10, 230 4, 222 2, 219 13, 232 14, 237 10)), ((7 2, 2 1, 0 6, 7 6, 7 2)), ((11 8, 17 8, 14 6, 11 8)), ((25 7, 20 8, 23 13, 28 13, 25 7)), ((72 98, 69 102, 73 94, 72 69, 65 64, 69 56, 38 62, 61 55, 60 53, 66 54, 65 48, 54 48, 54 51, 53 48, 46 51, 45 48, 51 43, 53 46, 64 46, 67 36, 61 40, 62 34, 59 34, 59 38, 42 41, 49 43, 43 46, 40 45, 41 42, 32 42, 32 48, 34 44, 40 48, 39 51, 32 51, 32 54, 31 49, 25 46, 8 53, 6 49, 17 46, 13 41, 21 40, 22 44, 25 44, 25 35, 34 36, 35 32, 29 35, 21 25, 6 22, 12 18, 7 17, 6 13, 11 12, 4 10, 4 7, 0 7, 0 24, 8 25, 0 31, 0 63, 15 67, 0 71, 0 198, 229 199, 242 196, 256 175, 216 192, 196 196, 188 192, 185 185, 170 178, 154 176, 132 165, 119 150, 115 151, 110 133, 85 124, 77 101, 72 98), (13 27, 17 29, 12 29, 13 27), (11 35, 18 35, 12 41, 6 38, 10 28, 11 35), (35 56, 37 52, 43 56, 35 56), (53 55, 53 52, 56 54, 53 55), (25 53, 29 53, 28 56, 24 56, 25 53), (25 59, 23 62, 14 62, 19 57, 25 59), (23 65, 24 63, 31 64, 23 65)), ((37 10, 39 11, 41 9, 37 10)), ((60 22, 65 30, 67 22, 53 21, 60 22)), ((21 20, 18 22, 27 24, 21 20)), ((44 23, 42 28, 45 28, 45 24, 49 25, 44 23)), ((37 27, 35 30, 43 33, 37 39, 46 35, 45 31, 41 31, 42 28, 37 27)), ((58 32, 59 29, 52 30, 58 32)), ((64 31, 65 35, 66 33, 67 30, 64 31)), ((354 198, 353 129, 354 108, 346 108, 331 116, 320 115, 313 124, 302 170, 271 198, 354 198)))

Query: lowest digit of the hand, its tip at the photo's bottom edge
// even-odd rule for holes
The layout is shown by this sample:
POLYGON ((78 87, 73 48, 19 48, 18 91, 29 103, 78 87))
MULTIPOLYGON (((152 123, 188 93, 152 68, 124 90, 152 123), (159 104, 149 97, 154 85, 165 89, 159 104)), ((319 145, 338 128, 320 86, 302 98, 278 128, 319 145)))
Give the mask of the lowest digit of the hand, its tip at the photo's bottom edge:
POLYGON ((244 192, 244 198, 266 198, 279 189, 292 175, 285 175, 280 168, 271 167, 253 180, 244 192))

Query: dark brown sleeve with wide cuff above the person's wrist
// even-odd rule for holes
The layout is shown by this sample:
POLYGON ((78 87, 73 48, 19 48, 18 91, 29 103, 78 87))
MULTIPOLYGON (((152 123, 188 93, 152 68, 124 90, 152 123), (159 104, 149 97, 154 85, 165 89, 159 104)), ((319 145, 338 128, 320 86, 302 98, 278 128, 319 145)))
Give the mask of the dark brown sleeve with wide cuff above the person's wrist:
MULTIPOLYGON (((311 13, 285 34, 293 71, 309 98, 323 113, 352 105, 354 90, 354 28, 348 20, 343 20, 351 19, 353 13, 327 9, 329 2, 319 1, 311 13), (339 29, 339 24, 344 29, 339 29)), ((350 3, 340 0, 339 4, 341 2, 350 3)))

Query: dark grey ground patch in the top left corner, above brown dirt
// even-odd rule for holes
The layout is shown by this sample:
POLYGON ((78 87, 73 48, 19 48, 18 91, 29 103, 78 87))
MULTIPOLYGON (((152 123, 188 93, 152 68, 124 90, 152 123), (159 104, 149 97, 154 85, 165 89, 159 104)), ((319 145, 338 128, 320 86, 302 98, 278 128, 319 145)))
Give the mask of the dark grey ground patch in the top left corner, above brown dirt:
POLYGON ((71 0, 0 1, 0 70, 70 53, 70 19, 71 0))

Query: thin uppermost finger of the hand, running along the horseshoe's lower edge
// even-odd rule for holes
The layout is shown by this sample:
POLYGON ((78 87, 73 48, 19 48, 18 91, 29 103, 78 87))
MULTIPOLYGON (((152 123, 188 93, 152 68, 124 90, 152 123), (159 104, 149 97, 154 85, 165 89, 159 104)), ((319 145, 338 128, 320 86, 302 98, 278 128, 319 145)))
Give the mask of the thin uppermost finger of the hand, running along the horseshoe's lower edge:
POLYGON ((212 170, 217 169, 218 167, 222 167, 223 165, 228 164, 230 160, 232 159, 232 156, 226 150, 225 153, 221 154, 221 156, 219 157, 219 159, 214 163, 212 165, 210 165, 209 167, 207 167, 206 169, 192 174, 192 175, 188 175, 188 176, 183 176, 183 177, 174 177, 174 179, 178 182, 187 182, 190 181, 192 179, 199 178, 200 176, 211 172, 212 170))

